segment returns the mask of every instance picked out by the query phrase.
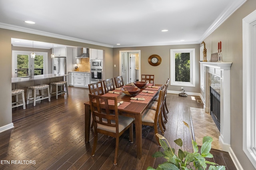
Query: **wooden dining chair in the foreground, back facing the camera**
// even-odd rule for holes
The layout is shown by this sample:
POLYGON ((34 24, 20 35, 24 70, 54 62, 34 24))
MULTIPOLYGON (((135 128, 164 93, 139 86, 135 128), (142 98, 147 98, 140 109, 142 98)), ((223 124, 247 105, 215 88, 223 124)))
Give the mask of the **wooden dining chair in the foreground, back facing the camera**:
POLYGON ((94 143, 92 156, 95 154, 98 133, 116 138, 114 165, 117 164, 119 137, 129 128, 129 140, 133 142, 133 119, 118 115, 117 97, 89 94, 92 119, 94 123, 94 143), (114 101, 111 104, 110 101, 114 101), (112 111, 112 112, 111 112, 112 111), (111 114, 114 113, 114 114, 111 114))

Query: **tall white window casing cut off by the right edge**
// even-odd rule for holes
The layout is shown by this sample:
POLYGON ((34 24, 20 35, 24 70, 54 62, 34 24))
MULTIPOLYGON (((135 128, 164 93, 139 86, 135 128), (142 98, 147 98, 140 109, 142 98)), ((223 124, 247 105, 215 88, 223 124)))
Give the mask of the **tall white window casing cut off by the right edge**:
POLYGON ((256 10, 242 20, 243 150, 256 168, 256 10))

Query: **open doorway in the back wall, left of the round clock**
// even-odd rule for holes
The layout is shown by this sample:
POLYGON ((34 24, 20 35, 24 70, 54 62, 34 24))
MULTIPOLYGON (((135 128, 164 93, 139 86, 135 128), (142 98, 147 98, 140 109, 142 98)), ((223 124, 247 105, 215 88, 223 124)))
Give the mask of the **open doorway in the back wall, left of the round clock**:
POLYGON ((140 80, 140 50, 119 51, 119 62, 124 84, 140 80))

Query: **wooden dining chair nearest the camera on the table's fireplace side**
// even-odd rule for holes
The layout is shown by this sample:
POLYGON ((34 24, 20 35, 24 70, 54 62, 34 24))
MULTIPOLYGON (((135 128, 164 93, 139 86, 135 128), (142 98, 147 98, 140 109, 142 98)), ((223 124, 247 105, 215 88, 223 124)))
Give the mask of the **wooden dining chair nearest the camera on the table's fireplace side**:
MULTIPOLYGON (((156 133, 158 133, 158 129, 157 129, 158 125, 160 127, 162 134, 164 134, 164 129, 162 127, 162 122, 161 122, 161 119, 162 119, 161 112, 162 112, 162 105, 163 105, 162 100, 164 99, 164 91, 165 91, 165 86, 159 92, 159 100, 157 103, 156 110, 146 109, 142 113, 142 125, 154 127, 155 136, 156 136, 156 133)), ((156 141, 158 142, 158 145, 161 146, 157 136, 156 136, 156 141)))

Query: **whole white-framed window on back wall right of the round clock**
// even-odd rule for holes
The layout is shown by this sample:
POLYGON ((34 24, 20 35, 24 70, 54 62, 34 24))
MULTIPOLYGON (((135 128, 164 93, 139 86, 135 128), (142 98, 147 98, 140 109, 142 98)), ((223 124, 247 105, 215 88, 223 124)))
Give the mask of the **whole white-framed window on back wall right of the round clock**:
POLYGON ((195 87, 195 49, 170 49, 171 85, 195 87))

